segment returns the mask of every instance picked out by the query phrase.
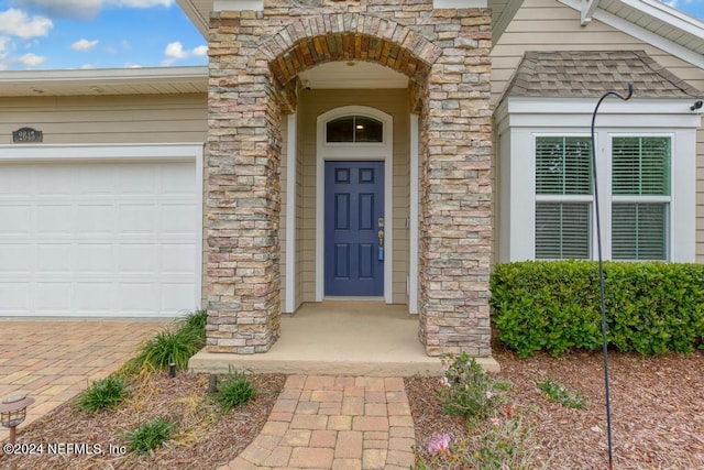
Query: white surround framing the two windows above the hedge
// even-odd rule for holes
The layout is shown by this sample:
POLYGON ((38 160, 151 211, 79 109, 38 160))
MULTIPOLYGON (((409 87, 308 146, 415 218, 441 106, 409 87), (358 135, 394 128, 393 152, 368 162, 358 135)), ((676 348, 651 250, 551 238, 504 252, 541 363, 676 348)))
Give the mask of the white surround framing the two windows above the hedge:
MULTIPOLYGON (((535 260, 536 135, 585 135, 596 99, 509 97, 495 112, 498 149, 498 262, 535 260)), ((612 258, 612 135, 671 138, 670 262, 695 262, 696 132, 691 99, 604 101, 595 128, 603 254, 612 258)), ((644 200, 644 199, 641 199, 644 200)), ((592 258, 596 258, 595 218, 592 258)))

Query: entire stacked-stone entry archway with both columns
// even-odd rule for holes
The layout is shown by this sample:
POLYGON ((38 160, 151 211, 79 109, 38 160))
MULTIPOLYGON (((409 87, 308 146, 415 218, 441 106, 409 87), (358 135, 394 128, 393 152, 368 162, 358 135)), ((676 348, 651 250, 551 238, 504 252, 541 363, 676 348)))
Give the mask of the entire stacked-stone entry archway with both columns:
POLYGON ((299 72, 358 59, 407 75, 421 117, 420 339, 433 356, 488 356, 490 11, 273 0, 215 13, 209 46, 207 349, 263 352, 278 337, 279 121, 299 72))

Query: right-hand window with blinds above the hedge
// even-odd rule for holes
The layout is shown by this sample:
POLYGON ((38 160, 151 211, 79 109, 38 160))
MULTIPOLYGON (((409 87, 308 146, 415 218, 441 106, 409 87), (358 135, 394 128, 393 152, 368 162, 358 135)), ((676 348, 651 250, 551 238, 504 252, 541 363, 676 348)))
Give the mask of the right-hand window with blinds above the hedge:
POLYGON ((667 260, 670 138, 612 141, 612 258, 667 260))

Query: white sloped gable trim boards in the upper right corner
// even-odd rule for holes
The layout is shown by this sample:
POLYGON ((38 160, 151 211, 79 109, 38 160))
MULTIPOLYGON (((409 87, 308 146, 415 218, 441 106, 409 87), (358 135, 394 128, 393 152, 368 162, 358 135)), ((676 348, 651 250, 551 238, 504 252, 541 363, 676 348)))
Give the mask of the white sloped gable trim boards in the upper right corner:
MULTIPOLYGON (((576 11, 581 11, 582 2, 580 0, 558 0, 558 1, 576 11)), ((640 4, 640 1, 637 4, 640 4)), ((639 7, 634 7, 634 8, 638 8, 639 11, 642 11, 645 14, 648 14, 647 12, 644 11, 642 8, 639 8, 639 7)), ((637 24, 634 24, 622 17, 617 17, 605 10, 597 9, 596 11, 594 11, 593 18, 595 20, 601 21, 604 24, 608 24, 609 26, 616 28, 617 30, 620 30, 624 33, 629 34, 645 43, 648 43, 669 54, 672 54, 673 56, 681 58, 684 62, 689 62, 690 64, 704 69, 704 56, 702 56, 701 54, 697 54, 692 50, 689 50, 684 46, 673 43, 672 41, 667 40, 657 33, 648 31, 641 26, 638 26, 637 24)), ((680 28, 676 24, 674 24, 672 21, 670 21, 672 19, 666 14, 654 15, 653 18, 662 20, 663 22, 672 25, 673 28, 680 28)), ((682 30, 682 32, 684 33, 688 31, 682 30)), ((695 34, 695 33, 690 33, 690 34, 695 34)), ((701 32, 701 29, 700 29, 698 37, 702 37, 703 36, 702 34, 703 33, 701 32)))

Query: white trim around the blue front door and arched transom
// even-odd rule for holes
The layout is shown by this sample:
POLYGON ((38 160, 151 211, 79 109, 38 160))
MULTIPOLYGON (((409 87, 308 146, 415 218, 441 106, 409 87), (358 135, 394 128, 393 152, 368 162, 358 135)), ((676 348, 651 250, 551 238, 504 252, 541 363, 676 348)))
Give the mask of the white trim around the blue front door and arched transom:
MULTIPOLYGON (((316 145, 316 302, 324 297, 324 162, 327 160, 383 160, 384 161, 384 223, 387 233, 394 233, 394 119, 378 109, 366 106, 343 106, 318 117, 316 145), (384 122, 382 144, 363 146, 326 146, 326 122, 348 114, 363 114, 384 122)), ((394 300, 394 237, 384 240, 384 302, 394 300)))

